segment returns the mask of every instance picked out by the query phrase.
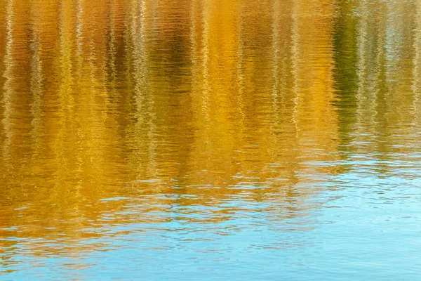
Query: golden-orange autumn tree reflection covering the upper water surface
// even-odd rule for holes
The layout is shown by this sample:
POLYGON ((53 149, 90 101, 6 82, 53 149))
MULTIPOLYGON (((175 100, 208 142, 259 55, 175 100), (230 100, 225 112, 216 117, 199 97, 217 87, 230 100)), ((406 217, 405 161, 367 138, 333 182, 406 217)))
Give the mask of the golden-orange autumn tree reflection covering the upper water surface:
POLYGON ((0 0, 0 237, 306 216, 347 152, 419 151, 421 6, 373 3, 0 0))

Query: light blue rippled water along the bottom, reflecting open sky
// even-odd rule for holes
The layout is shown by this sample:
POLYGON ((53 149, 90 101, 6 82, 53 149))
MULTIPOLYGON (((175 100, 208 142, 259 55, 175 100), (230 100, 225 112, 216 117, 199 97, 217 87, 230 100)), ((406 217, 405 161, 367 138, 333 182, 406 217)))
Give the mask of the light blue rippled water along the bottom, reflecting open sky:
MULTIPOLYGON (((265 213, 265 202, 252 204, 255 214, 239 211, 218 223, 189 223, 174 211, 168 222, 116 226, 110 230, 131 233, 83 241, 90 250, 74 259, 34 259, 22 252, 12 258, 17 271, 4 277, 419 280, 421 180, 392 172, 379 176, 370 173, 373 167, 362 161, 358 169, 328 178, 331 187, 312 198, 321 207, 307 218, 278 221, 265 213)), ((414 165, 406 174, 420 171, 414 165)))

